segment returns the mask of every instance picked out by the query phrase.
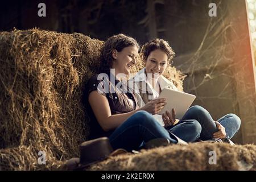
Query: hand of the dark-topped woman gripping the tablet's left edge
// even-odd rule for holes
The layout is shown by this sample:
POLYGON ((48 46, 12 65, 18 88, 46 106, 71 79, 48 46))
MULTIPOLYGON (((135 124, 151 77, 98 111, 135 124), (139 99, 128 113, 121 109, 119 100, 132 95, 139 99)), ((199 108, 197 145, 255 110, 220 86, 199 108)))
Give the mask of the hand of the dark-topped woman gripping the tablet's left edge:
POLYGON ((166 105, 166 98, 157 98, 156 100, 147 102, 147 104, 144 105, 141 110, 146 110, 151 114, 157 114, 163 109, 164 105, 166 105))

